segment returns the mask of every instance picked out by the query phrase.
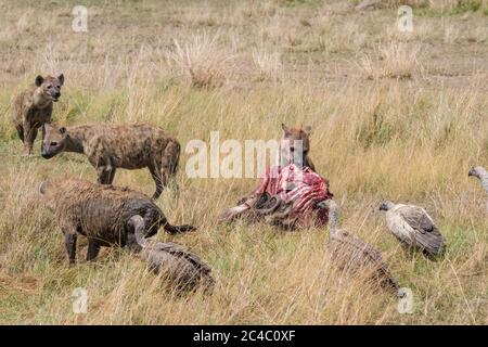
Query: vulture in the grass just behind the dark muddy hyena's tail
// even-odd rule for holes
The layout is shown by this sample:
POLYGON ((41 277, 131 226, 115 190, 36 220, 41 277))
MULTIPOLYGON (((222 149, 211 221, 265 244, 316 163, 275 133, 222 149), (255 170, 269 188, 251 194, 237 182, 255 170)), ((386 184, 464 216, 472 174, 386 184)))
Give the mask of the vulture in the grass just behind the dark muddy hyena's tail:
POLYGON ((136 216, 131 220, 136 239, 141 246, 140 256, 154 273, 170 281, 180 292, 193 291, 197 286, 210 287, 215 281, 211 269, 187 247, 172 242, 144 239, 143 220, 136 216))

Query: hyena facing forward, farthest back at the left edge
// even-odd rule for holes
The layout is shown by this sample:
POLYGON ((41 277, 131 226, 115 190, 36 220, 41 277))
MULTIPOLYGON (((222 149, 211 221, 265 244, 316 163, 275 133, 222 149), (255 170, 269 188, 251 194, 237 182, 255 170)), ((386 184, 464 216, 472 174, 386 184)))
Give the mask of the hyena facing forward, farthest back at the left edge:
POLYGON ((12 120, 27 155, 33 154, 38 129, 51 123, 52 103, 60 100, 63 83, 63 74, 57 77, 37 76, 34 86, 15 98, 12 120))

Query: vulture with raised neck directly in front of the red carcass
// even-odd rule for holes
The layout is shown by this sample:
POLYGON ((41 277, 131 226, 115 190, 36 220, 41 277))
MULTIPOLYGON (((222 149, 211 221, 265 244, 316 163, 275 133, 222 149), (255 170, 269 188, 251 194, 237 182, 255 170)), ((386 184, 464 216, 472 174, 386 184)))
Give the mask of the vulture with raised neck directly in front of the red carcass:
POLYGON ((324 202, 324 206, 329 210, 330 236, 328 248, 334 265, 338 269, 352 274, 367 272, 371 279, 394 290, 397 295, 401 296, 401 293, 399 293, 400 286, 391 277, 381 253, 347 230, 337 229, 338 206, 334 201, 324 202))

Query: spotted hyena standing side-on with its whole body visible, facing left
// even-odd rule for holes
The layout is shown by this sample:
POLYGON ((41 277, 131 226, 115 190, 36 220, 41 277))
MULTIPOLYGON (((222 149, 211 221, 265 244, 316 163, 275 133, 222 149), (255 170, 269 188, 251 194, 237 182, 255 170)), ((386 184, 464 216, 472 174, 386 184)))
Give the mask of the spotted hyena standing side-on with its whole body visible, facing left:
POLYGON ((149 168, 159 197, 176 175, 180 143, 162 129, 149 125, 85 125, 60 127, 44 125, 42 157, 61 152, 82 153, 97 169, 99 183, 112 184, 117 168, 149 168))

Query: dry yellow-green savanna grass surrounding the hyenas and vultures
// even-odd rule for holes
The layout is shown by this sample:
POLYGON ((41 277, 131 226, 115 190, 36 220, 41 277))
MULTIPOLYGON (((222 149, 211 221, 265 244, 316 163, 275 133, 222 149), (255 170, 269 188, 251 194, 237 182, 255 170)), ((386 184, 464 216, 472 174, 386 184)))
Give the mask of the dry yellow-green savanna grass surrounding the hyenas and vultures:
MULTIPOLYGON (((349 1, 1 1, 0 323, 487 324, 486 194, 467 178, 488 166, 488 3, 411 1, 413 33, 397 5, 349 11, 349 1), (88 7, 88 31, 72 9, 88 7), (189 70, 193 76, 190 76, 189 70), (68 267, 39 183, 95 180, 80 155, 23 157, 12 97, 37 74, 66 77, 53 117, 68 125, 157 125, 183 149, 192 139, 269 140, 280 124, 311 124, 310 155, 331 181, 342 223, 374 244, 414 295, 412 314, 326 258, 328 230, 281 232, 216 224, 257 179, 189 179, 158 204, 198 231, 169 236, 208 262, 214 294, 175 297, 119 249, 68 267), (406 252, 377 211, 381 200, 422 205, 447 239, 437 261, 406 252), (88 291, 74 314, 72 292, 88 291)), ((152 194, 146 170, 115 184, 152 194)))

